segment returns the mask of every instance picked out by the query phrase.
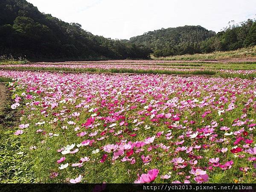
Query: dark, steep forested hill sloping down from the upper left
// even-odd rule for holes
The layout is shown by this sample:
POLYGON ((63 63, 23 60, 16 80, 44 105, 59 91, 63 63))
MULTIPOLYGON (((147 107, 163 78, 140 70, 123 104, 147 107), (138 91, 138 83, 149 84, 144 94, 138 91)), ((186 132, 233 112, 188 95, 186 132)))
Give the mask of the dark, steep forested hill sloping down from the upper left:
MULTIPOLYGON (((86 28, 86 26, 84 26, 86 28)), ((73 59, 148 58, 149 50, 93 35, 38 11, 26 0, 0 1, 0 55, 73 59)))

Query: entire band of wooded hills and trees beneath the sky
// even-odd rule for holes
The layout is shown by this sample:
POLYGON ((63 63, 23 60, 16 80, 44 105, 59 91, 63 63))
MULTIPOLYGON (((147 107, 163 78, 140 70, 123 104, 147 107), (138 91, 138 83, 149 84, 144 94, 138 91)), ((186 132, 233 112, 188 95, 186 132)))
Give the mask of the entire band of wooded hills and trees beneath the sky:
MULTIPOLYGON (((84 26, 86 28, 86 26, 84 26)), ((79 23, 66 23, 38 11, 26 0, 0 1, 0 55, 27 59, 125 59, 208 53, 256 45, 256 20, 215 34, 202 26, 146 32, 130 40, 93 35, 79 23)))

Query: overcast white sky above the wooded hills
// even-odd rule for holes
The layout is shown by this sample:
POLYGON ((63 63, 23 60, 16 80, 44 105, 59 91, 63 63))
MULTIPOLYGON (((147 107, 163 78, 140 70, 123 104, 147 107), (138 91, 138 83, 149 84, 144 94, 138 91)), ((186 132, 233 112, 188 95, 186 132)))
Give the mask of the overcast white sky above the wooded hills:
POLYGON ((27 0, 38 10, 94 35, 129 39, 155 29, 201 25, 221 31, 255 18, 256 0, 27 0))

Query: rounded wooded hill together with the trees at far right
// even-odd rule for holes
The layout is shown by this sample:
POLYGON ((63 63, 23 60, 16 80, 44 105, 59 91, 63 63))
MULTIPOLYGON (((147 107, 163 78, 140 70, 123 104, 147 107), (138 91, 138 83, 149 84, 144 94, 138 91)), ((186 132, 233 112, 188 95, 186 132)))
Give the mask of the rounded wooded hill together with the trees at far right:
POLYGON ((230 24, 217 34, 201 26, 182 26, 147 32, 130 40, 151 49, 155 57, 231 51, 256 45, 256 20, 230 24))

